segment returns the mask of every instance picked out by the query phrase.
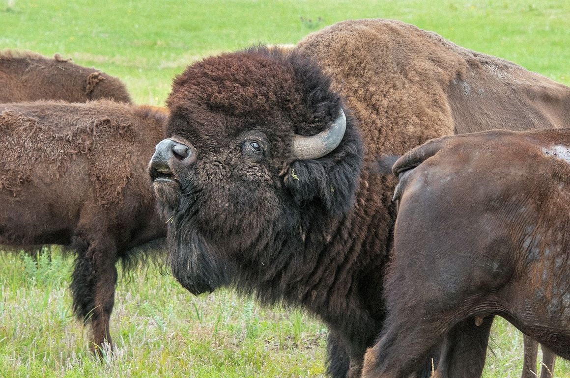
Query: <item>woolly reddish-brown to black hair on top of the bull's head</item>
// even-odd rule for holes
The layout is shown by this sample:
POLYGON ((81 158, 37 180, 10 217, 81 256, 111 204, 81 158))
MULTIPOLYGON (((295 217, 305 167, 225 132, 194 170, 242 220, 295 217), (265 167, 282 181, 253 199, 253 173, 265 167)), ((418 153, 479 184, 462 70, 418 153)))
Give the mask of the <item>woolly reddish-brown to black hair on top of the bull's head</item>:
POLYGON ((337 117, 340 96, 330 85, 319 66, 298 51, 257 46, 188 67, 174 80, 167 105, 186 116, 214 110, 254 120, 281 110, 295 133, 314 135, 337 117), (187 105, 185 98, 196 98, 200 106, 179 106, 187 105))

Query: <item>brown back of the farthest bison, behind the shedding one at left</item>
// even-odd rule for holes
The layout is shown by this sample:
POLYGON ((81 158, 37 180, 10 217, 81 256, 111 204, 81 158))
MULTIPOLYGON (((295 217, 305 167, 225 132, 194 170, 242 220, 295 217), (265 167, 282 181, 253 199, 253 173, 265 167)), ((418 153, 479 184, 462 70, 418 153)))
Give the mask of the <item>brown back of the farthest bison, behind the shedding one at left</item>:
POLYGON ((59 54, 50 59, 30 51, 1 51, 0 102, 86 102, 102 98, 131 102, 127 88, 117 77, 70 60, 59 54))

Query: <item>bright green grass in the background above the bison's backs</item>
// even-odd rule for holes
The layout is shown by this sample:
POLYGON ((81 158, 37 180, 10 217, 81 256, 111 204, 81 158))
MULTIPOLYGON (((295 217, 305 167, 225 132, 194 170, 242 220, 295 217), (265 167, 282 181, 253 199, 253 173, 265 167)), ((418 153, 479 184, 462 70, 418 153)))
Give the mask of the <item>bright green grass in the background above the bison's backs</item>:
POLYGON ((137 102, 153 105, 201 56, 296 43, 349 18, 400 19, 570 84, 570 5, 562 0, 10 1, 0 2, 0 47, 74 57, 120 76, 137 102))

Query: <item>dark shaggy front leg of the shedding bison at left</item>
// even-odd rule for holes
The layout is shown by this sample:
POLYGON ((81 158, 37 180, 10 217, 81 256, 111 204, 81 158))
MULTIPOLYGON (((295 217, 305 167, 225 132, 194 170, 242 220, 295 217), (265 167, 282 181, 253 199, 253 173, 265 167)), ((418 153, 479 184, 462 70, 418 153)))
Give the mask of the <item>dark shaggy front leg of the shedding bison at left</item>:
POLYGON ((112 346, 109 318, 115 303, 117 252, 104 238, 91 243, 78 239, 74 244, 78 252, 71 281, 74 311, 84 323, 91 323, 93 350, 101 352, 105 342, 112 346))

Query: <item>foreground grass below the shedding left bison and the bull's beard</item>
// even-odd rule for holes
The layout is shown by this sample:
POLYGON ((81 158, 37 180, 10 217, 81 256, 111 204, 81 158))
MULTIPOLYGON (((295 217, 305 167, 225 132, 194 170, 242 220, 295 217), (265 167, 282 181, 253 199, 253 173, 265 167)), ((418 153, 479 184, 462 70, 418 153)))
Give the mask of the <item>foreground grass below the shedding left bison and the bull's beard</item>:
POLYGON ((300 311, 270 310, 227 290, 193 297, 151 270, 123 279, 103 361, 71 313, 72 258, 35 264, 0 252, 0 376, 314 376, 326 328, 300 311))

